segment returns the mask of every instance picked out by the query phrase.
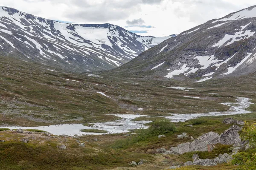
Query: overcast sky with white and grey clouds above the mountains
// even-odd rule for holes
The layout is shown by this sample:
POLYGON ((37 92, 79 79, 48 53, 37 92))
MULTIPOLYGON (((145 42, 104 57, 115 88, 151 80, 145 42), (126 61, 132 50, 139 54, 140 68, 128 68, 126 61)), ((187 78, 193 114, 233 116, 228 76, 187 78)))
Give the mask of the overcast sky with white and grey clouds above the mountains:
POLYGON ((111 23, 140 35, 179 34, 255 0, 0 0, 0 6, 73 23, 111 23))

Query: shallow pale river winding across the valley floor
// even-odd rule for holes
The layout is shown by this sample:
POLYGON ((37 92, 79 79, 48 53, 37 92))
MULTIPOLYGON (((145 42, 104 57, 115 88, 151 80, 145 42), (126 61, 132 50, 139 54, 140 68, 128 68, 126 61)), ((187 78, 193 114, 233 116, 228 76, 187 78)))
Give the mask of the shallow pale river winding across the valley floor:
MULTIPOLYGON (((250 99, 238 97, 235 103, 221 103, 223 105, 230 106, 229 111, 224 112, 209 112, 209 113, 192 113, 192 114, 172 114, 172 116, 166 116, 167 119, 170 119, 171 122, 185 122, 186 120, 195 119, 201 116, 222 116, 222 115, 235 115, 235 114, 245 114, 252 113, 246 111, 245 109, 249 107, 250 99)), ((113 114, 114 116, 121 117, 122 119, 116 120, 113 122, 104 122, 96 123, 93 127, 87 127, 83 124, 63 124, 63 125, 50 125, 50 126, 39 126, 39 127, 0 127, 0 128, 9 128, 9 129, 38 129, 45 130, 53 135, 68 135, 68 136, 81 136, 81 135, 100 135, 102 133, 87 133, 81 132, 81 129, 99 129, 107 130, 107 134, 112 133, 126 133, 129 130, 139 129, 139 128, 148 128, 144 124, 151 121, 132 121, 137 117, 142 117, 146 115, 131 115, 131 114, 113 114)), ((147 116, 150 117, 150 116, 147 116)))

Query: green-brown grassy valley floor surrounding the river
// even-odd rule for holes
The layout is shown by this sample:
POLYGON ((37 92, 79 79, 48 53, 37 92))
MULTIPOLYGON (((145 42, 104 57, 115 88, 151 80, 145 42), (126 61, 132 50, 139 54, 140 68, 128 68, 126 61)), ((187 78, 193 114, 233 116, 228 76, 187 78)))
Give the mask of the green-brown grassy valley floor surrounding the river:
MULTIPOLYGON (((227 117, 256 122, 256 104, 253 104, 256 103, 255 92, 254 74, 238 77, 236 81, 226 78, 201 83, 174 79, 147 80, 143 77, 122 78, 103 73, 66 73, 36 63, 0 57, 1 127, 68 123, 90 127, 99 122, 118 122, 120 118, 115 114, 147 115, 134 120, 148 121, 146 125, 151 126, 149 122, 164 120, 165 116, 175 114, 227 112, 230 106, 221 103, 236 102, 237 97, 249 98, 252 102, 245 114, 207 116, 197 119, 200 123, 193 120, 176 122, 176 130, 167 132, 166 138, 161 139, 157 135, 150 135, 137 140, 133 133, 139 134, 138 130, 70 137, 49 135, 41 130, 18 133, 16 130, 1 129, 0 140, 5 142, 0 142, 0 169, 162 170, 183 164, 191 160, 193 153, 163 155, 155 150, 162 147, 169 150, 172 146, 189 141, 177 139, 175 134, 186 132, 197 138, 209 131, 223 133, 231 126, 221 123, 227 117), (193 127, 187 126, 190 124, 194 124, 193 127), (21 142, 22 139, 28 139, 29 142, 21 142), (61 149, 61 145, 67 148, 61 149), (129 165, 131 161, 140 160, 144 164, 136 167, 129 165)), ((203 159, 213 158, 228 152, 228 147, 222 146, 223 150, 200 155, 203 159)), ((220 164, 215 167, 189 168, 231 170, 236 169, 236 166, 220 164)))

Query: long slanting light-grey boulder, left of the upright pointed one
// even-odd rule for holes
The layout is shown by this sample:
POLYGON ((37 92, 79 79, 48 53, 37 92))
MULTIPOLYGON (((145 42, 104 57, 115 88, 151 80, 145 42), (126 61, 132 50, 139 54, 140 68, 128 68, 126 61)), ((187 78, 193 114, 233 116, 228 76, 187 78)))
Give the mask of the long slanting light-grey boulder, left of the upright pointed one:
POLYGON ((198 137, 193 142, 187 142, 183 144, 179 144, 177 147, 171 147, 171 150, 178 153, 183 154, 186 152, 193 151, 208 151, 209 144, 217 144, 219 139, 218 133, 209 132, 204 135, 198 137))

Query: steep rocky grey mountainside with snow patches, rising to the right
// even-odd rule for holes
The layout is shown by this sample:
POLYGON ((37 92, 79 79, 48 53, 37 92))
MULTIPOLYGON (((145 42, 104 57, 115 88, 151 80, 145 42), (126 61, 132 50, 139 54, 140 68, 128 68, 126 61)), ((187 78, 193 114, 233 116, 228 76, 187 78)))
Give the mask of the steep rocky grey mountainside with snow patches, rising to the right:
POLYGON ((256 6, 210 20, 165 40, 116 73, 197 82, 256 71, 256 6))

